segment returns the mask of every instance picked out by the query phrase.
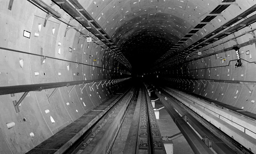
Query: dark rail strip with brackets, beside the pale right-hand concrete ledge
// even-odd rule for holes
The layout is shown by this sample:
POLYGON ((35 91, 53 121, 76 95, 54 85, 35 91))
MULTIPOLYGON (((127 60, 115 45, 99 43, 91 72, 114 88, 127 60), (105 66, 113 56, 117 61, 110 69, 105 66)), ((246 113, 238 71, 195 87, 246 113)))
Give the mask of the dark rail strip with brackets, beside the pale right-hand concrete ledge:
MULTIPOLYGON (((172 107, 177 110, 177 112, 183 116, 183 119, 192 126, 192 128, 203 138, 205 144, 212 148, 218 154, 236 154, 232 148, 227 146, 221 139, 215 136, 211 131, 209 131, 204 125, 202 125, 197 119, 195 119, 189 112, 180 106, 175 99, 172 97, 161 93, 161 95, 166 98, 167 102, 172 105, 172 107)), ((241 152, 241 151, 239 151, 241 152)))

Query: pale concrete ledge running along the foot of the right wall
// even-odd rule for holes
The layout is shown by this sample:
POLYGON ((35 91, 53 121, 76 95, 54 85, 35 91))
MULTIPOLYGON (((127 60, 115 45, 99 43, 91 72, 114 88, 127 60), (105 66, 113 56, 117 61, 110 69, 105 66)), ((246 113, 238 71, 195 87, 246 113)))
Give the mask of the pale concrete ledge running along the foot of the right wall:
MULTIPOLYGON (((168 91, 171 89, 169 88, 168 91)), ((195 98, 186 93, 172 89, 168 92, 175 99, 182 102, 187 107, 197 112, 200 116, 204 117, 208 122, 211 122, 215 127, 221 129, 224 133, 235 139, 245 148, 250 149, 253 153, 256 152, 256 137, 254 128, 256 123, 249 119, 238 116, 228 110, 221 110, 215 105, 211 105, 202 99, 195 98), (251 131, 246 131, 251 130, 251 131)))

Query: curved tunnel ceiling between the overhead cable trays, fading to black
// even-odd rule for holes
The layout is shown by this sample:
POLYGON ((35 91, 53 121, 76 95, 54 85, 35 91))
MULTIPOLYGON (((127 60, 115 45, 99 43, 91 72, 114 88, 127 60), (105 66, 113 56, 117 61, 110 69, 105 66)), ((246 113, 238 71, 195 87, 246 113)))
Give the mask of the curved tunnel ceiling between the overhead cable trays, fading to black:
MULTIPOLYGON (((87 11, 134 67, 150 71, 161 55, 219 3, 221 0, 99 0, 88 5, 87 11)), ((204 29, 209 31, 207 26, 204 29)))

